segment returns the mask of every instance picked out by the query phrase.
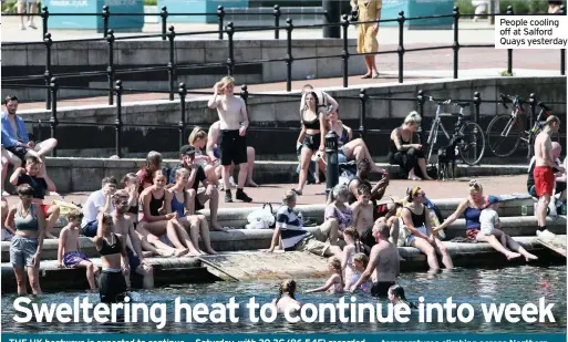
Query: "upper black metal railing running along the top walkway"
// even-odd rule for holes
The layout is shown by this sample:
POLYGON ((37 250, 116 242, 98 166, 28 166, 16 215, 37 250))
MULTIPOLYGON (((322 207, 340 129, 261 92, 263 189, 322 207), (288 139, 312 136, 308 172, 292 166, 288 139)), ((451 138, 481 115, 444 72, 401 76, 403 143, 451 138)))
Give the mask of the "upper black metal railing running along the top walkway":
MULTIPOLYGON (((291 91, 292 87, 292 65, 297 61, 307 61, 307 60, 318 60, 318 59, 330 59, 330 58, 340 58, 342 59, 342 85, 343 87, 349 86, 349 60, 351 56, 357 55, 376 55, 376 54, 397 54, 399 56, 399 70, 397 70, 397 79, 399 83, 404 82, 404 54, 409 52, 422 52, 422 51, 431 51, 431 50, 442 50, 442 49, 452 49, 453 50, 453 77, 458 79, 458 60, 459 60, 459 51, 462 49, 475 49, 475 48, 494 48, 494 44, 461 44, 459 43, 459 20, 461 18, 472 18, 474 14, 462 14, 459 13, 459 10, 457 7, 454 8, 453 12, 451 14, 441 14, 441 15, 427 15, 427 17, 415 17, 415 18, 406 18, 404 17, 404 12, 401 11, 399 13, 399 17, 395 19, 382 19, 378 21, 365 21, 365 22, 355 22, 352 21, 348 14, 343 14, 341 22, 328 22, 324 24, 311 24, 311 25, 301 25, 301 27, 295 27, 291 19, 286 20, 286 40, 287 40, 287 54, 283 58, 280 59, 267 59, 267 60, 255 60, 255 61, 242 61, 237 62, 235 59, 235 44, 234 44, 234 35, 238 32, 252 32, 252 31, 266 31, 266 30, 273 30, 275 31, 275 38, 279 38, 279 31, 280 31, 280 17, 281 13, 279 11, 279 8, 275 7, 275 25, 273 27, 261 27, 261 28, 235 28, 233 22, 229 22, 225 28, 224 25, 224 18, 225 18, 225 11, 223 7, 219 7, 217 15, 218 15, 218 23, 219 23, 219 30, 217 31, 202 31, 202 32, 176 32, 175 28, 171 25, 166 30, 167 25, 167 18, 169 15, 174 15, 173 13, 168 13, 166 8, 163 8, 163 11, 161 13, 162 17, 162 33, 159 34, 144 34, 144 35, 132 35, 132 37, 115 37, 114 31, 112 29, 109 29, 109 20, 111 15, 140 15, 140 13, 113 13, 111 14, 110 9, 106 7, 103 9, 102 13, 81 13, 80 15, 102 15, 104 20, 104 38, 93 38, 93 39, 82 39, 82 40, 66 40, 66 41, 53 41, 51 33, 48 32, 48 19, 50 15, 60 15, 60 13, 49 13, 47 8, 43 8, 42 13, 39 15, 42 15, 43 19, 43 32, 44 32, 44 39, 41 42, 17 42, 17 43, 4 43, 3 46, 14 46, 14 45, 29 45, 29 44, 43 44, 45 46, 45 71, 43 74, 37 74, 37 75, 25 75, 20 77, 3 77, 3 87, 22 87, 23 84, 19 83, 11 83, 11 82, 38 82, 43 80, 45 84, 45 108, 50 110, 51 106, 51 92, 49 91, 49 85, 51 83, 52 77, 58 77, 59 80, 64 80, 69 77, 93 77, 93 76, 106 76, 107 85, 109 85, 109 104, 113 105, 114 103, 114 82, 117 76, 121 74, 132 74, 132 73, 141 73, 141 72, 149 72, 149 71, 165 71, 167 73, 168 77, 168 91, 166 93, 169 94, 169 100, 174 101, 174 95, 177 92, 176 90, 176 83, 177 83, 177 73, 180 70, 189 70, 189 69, 199 69, 199 68, 208 68, 208 66, 226 66, 227 68, 227 74, 233 75, 235 71, 235 66, 239 65, 250 65, 255 63, 273 63, 273 62, 283 62, 286 63, 286 90, 288 92, 291 91), (441 18, 453 18, 453 42, 447 45, 440 45, 440 46, 426 46, 426 48, 415 48, 415 49, 405 49, 404 48, 404 23, 406 21, 412 20, 427 20, 427 19, 441 19, 441 18), (351 53, 349 52, 349 35, 348 30, 350 25, 358 25, 358 24, 364 24, 364 23, 384 23, 384 22, 397 22, 399 23, 399 46, 396 50, 391 51, 378 51, 378 52, 369 52, 369 53, 351 53), (293 56, 293 49, 292 49, 292 32, 295 29, 314 29, 314 28, 330 28, 330 27, 338 27, 340 25, 342 28, 342 52, 341 54, 334 54, 334 55, 324 55, 324 56, 304 56, 304 58, 295 58, 293 56), (195 34, 206 34, 206 33, 218 33, 219 39, 224 39, 224 33, 227 34, 227 61, 225 63, 202 63, 202 64, 179 64, 175 61, 175 42, 176 37, 182 35, 195 35, 195 34), (149 39, 149 38, 162 38, 162 40, 168 40, 169 41, 169 61, 166 65, 163 66, 151 66, 151 68, 132 68, 132 69, 116 69, 115 62, 113 59, 114 53, 114 44, 116 41, 121 40, 134 40, 134 39, 149 39), (107 68, 106 70, 101 71, 93 71, 93 72, 76 72, 76 73, 61 73, 61 74, 54 74, 52 72, 52 63, 51 63, 51 48, 54 43, 68 43, 68 42, 93 42, 93 41, 105 41, 109 46, 109 53, 107 53, 107 68), (113 90, 113 91, 111 91, 113 90)), ((213 14, 213 13, 177 13, 177 14, 195 14, 195 15, 203 15, 203 14, 213 14)), ((515 15, 513 7, 508 7, 507 9, 507 15, 515 15)), ((558 15, 558 14, 547 14, 547 13, 536 13, 539 15, 558 15)), ((560 15, 565 15, 566 11, 562 7, 560 15)), ((63 15, 63 14, 61 14, 63 15)), ((72 15, 65 13, 64 15, 72 15)), ((155 14, 152 14, 155 15, 155 14)), ((488 15, 498 15, 496 13, 489 13, 488 15)), ((329 17, 329 15, 328 15, 329 17)), ((329 21, 329 18, 328 18, 329 21)), ((6 52, 4 52, 6 53, 6 52)), ((560 74, 566 74, 566 50, 560 50, 560 74)), ((513 73, 513 49, 507 50, 507 72, 509 74, 513 73)), ((31 86, 31 85, 30 85, 31 86)), ((61 87, 62 89, 62 87, 61 87)), ((95 90, 95 89, 93 89, 95 90)), ((105 90, 106 91, 106 90, 105 90)), ((161 93, 161 91, 153 91, 154 93, 161 93)))

